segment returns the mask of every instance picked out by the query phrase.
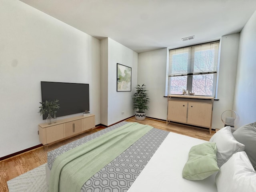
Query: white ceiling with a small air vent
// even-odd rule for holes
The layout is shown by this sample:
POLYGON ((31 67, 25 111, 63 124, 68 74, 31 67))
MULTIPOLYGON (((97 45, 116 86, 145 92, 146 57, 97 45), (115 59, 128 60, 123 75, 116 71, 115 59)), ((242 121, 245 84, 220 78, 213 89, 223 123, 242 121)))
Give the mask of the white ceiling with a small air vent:
POLYGON ((256 0, 20 0, 98 39, 140 53, 240 32, 256 0), (195 36, 182 41, 181 38, 195 36))

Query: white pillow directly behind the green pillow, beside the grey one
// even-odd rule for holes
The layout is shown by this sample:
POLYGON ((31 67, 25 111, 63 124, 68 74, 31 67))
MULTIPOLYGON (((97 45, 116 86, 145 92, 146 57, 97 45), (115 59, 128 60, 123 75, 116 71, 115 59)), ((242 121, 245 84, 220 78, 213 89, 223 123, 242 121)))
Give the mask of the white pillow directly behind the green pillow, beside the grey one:
POLYGON ((232 156, 232 154, 244 151, 244 144, 239 143, 230 130, 230 126, 226 126, 216 132, 210 142, 216 143, 217 146, 217 162, 219 168, 232 156))

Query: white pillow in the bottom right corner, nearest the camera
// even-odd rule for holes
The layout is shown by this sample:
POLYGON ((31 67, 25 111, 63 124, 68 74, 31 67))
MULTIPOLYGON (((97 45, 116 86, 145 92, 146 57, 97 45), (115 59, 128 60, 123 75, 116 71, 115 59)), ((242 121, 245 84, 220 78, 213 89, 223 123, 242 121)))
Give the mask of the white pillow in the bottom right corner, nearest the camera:
POLYGON ((218 192, 256 192, 256 173, 244 151, 224 163, 215 181, 218 192))

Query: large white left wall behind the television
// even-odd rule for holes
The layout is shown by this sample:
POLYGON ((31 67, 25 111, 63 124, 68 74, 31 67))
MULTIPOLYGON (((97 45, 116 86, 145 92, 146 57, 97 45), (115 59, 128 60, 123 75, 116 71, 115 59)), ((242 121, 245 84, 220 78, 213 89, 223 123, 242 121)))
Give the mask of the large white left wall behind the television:
POLYGON ((100 123, 100 41, 18 0, 0 1, 0 157, 40 144, 40 81, 90 84, 100 123))

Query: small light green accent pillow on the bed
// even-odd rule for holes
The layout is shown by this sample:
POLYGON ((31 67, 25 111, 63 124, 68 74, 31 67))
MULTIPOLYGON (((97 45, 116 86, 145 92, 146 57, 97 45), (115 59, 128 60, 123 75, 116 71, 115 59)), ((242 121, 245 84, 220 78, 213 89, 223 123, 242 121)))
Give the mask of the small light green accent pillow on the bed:
POLYGON ((216 143, 206 142, 193 146, 188 154, 182 177, 188 180, 203 180, 219 169, 216 143))

